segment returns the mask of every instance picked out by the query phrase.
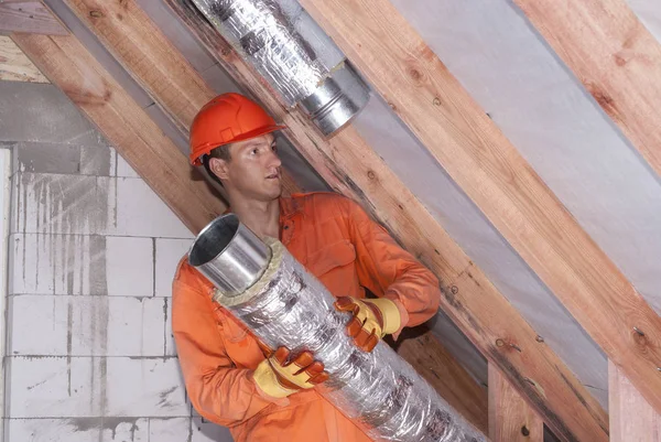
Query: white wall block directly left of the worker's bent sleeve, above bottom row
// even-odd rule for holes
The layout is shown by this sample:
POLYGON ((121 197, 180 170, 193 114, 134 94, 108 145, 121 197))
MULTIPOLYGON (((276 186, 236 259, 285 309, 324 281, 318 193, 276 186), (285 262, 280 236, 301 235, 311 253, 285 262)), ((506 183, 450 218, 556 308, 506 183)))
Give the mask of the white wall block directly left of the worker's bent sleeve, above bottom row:
POLYGON ((107 414, 189 416, 176 358, 113 357, 107 362, 107 414))

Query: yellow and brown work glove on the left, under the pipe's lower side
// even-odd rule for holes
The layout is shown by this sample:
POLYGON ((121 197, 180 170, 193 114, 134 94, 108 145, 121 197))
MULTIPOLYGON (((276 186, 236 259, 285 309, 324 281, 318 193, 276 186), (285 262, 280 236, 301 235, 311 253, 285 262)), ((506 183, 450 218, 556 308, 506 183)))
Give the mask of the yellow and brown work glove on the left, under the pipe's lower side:
POLYGON ((290 351, 286 347, 278 348, 254 369, 254 384, 271 397, 284 398, 328 379, 324 364, 314 360, 312 353, 303 352, 291 362, 289 358, 290 351))

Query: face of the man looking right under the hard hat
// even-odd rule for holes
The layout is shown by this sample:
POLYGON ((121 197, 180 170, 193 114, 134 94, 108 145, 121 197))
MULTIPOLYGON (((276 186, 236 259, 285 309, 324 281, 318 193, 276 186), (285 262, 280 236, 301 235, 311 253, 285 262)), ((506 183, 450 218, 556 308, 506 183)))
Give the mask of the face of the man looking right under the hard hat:
POLYGON ((275 139, 268 133, 234 143, 230 160, 213 159, 212 170, 245 197, 271 201, 281 193, 281 165, 275 139))

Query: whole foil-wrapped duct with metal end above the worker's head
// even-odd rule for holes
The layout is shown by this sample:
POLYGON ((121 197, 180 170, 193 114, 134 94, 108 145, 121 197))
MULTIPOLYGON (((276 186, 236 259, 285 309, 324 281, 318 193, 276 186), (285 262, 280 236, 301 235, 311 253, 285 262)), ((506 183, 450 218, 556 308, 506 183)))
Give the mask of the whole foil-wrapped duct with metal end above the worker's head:
POLYGON ((193 0, 239 55, 329 136, 369 101, 369 87, 296 0, 193 0))

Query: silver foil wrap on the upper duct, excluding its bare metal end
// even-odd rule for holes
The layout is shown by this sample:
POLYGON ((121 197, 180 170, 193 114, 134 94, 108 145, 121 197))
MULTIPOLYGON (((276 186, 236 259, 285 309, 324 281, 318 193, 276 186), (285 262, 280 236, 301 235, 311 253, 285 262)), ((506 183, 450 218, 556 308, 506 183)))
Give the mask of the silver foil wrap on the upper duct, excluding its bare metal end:
POLYGON ((313 95, 344 58, 293 0, 282 0, 282 6, 274 0, 193 2, 290 107, 313 95))

